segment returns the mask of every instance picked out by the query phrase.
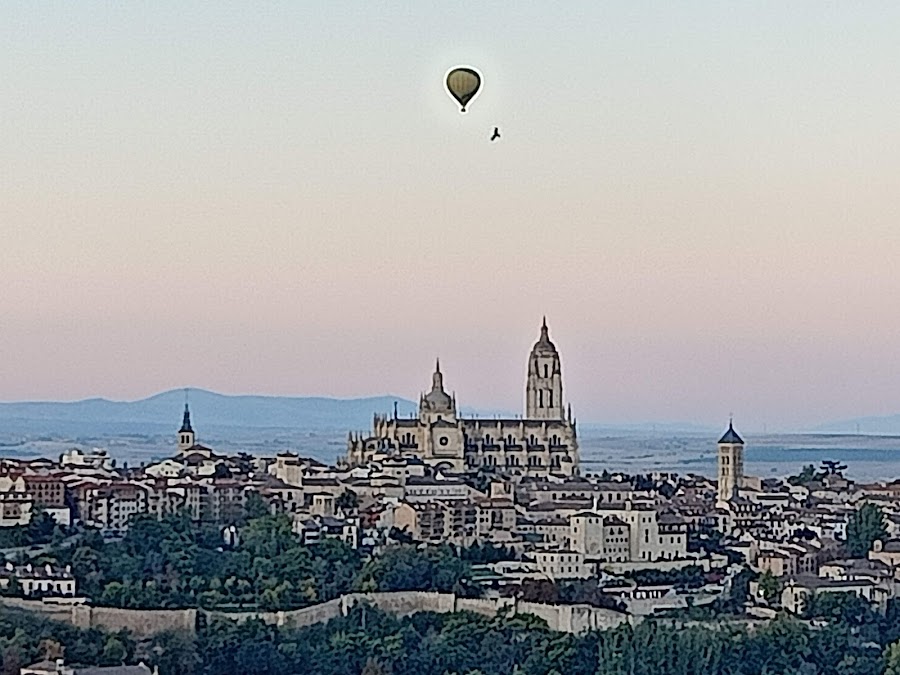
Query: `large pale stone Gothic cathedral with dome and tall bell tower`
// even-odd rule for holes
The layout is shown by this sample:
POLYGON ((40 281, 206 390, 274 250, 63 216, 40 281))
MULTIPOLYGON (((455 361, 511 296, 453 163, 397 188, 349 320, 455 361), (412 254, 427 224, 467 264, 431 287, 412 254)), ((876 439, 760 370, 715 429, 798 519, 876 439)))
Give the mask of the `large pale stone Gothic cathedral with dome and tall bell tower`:
POLYGON ((392 455, 412 455, 453 472, 487 467, 513 477, 577 475, 575 420, 565 406, 559 352, 546 319, 528 357, 524 417, 460 417, 456 398, 444 391, 438 362, 431 391, 419 398, 418 415, 375 415, 370 436, 350 435, 342 464, 360 466, 392 455))

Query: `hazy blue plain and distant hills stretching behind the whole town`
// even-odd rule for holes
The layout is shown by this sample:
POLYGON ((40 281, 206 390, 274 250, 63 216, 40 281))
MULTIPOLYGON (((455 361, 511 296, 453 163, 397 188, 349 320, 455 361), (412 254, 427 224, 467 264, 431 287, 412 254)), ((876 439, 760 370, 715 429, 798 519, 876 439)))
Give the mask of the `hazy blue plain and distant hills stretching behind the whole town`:
MULTIPOLYGON (((364 431, 374 413, 415 413, 399 396, 356 399, 326 397, 227 396, 189 392, 199 442, 223 454, 272 456, 293 451, 331 463, 346 450, 348 431, 364 431)), ((0 450, 6 456, 56 457, 71 447, 102 447, 118 462, 140 465, 174 452, 184 390, 122 402, 0 403, 0 450)), ((462 410, 491 419, 503 411, 462 410)), ((505 413, 504 416, 512 416, 505 413)), ((628 474, 716 471, 715 441, 721 429, 689 423, 615 425, 580 423, 584 471, 628 474)), ((807 464, 836 460, 857 480, 900 474, 900 416, 826 422, 794 433, 746 434, 747 471, 757 476, 789 475, 807 464), (859 430, 857 432, 857 429, 859 430)))

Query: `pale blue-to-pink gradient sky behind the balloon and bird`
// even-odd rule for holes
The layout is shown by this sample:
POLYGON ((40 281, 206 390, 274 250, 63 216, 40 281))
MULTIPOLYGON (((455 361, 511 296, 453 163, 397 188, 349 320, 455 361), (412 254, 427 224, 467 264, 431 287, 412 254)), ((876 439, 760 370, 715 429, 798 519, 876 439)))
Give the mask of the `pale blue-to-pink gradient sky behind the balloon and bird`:
POLYGON ((900 411, 900 4, 483 5, 0 5, 0 400, 900 411))

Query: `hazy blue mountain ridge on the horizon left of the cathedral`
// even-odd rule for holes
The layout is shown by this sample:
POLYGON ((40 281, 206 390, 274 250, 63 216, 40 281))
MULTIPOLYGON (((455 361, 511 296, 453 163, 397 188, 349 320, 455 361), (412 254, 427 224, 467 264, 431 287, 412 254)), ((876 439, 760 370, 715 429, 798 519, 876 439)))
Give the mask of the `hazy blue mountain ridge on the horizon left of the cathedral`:
MULTIPOLYGON (((323 397, 227 396, 203 389, 188 392, 198 430, 223 427, 303 430, 367 429, 375 412, 415 413, 412 401, 395 396, 323 397)), ((184 390, 139 401, 102 398, 72 402, 0 403, 0 431, 18 434, 174 433, 181 424, 184 390)), ((6 434, 4 434, 6 435, 6 434)))

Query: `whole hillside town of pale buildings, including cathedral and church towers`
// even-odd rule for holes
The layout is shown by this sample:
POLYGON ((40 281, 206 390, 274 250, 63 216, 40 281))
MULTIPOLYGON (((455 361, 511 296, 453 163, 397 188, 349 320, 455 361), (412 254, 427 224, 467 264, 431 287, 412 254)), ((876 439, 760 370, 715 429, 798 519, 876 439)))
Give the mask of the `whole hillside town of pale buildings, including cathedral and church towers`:
POLYGON ((752 448, 733 422, 718 439, 716 480, 583 474, 546 320, 528 355, 525 401, 521 417, 462 417, 437 364, 417 416, 376 414, 333 466, 293 453, 220 455, 198 440, 188 404, 162 461, 117 467, 100 449, 4 459, 0 586, 6 597, 100 603, 72 565, 36 561, 85 532, 115 541, 136 519, 175 515, 215 527, 233 547, 252 511, 289 522, 299 545, 337 540, 361 556, 397 546, 491 551, 473 558, 483 596, 556 602, 560 584, 590 582, 589 602, 629 620, 713 611, 726 599, 748 619, 802 616, 822 593, 884 611, 898 597, 900 481, 854 483, 836 462, 786 478, 745 475, 752 448))

